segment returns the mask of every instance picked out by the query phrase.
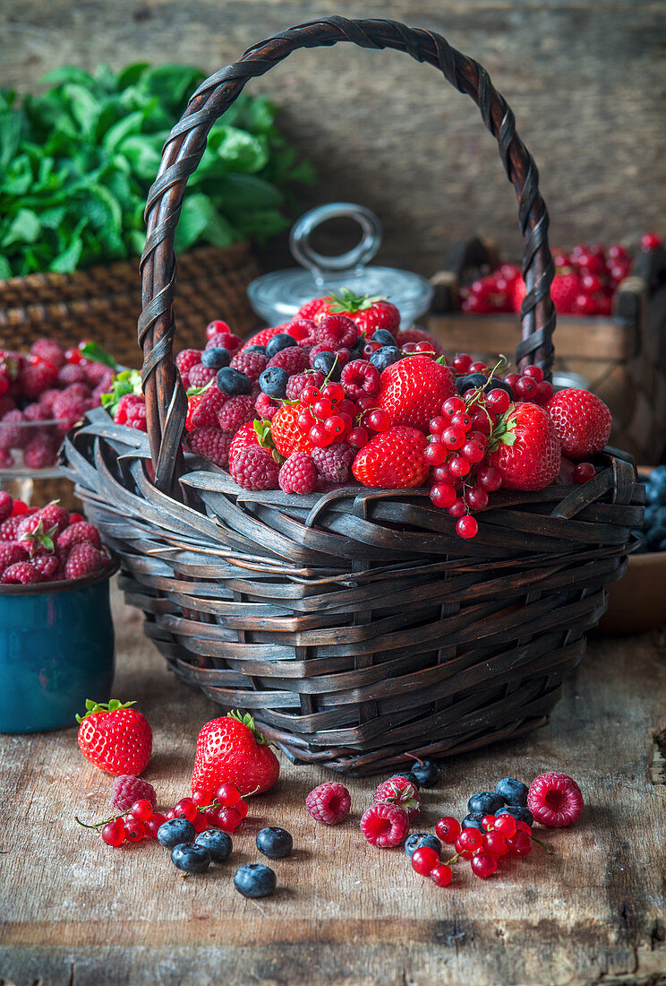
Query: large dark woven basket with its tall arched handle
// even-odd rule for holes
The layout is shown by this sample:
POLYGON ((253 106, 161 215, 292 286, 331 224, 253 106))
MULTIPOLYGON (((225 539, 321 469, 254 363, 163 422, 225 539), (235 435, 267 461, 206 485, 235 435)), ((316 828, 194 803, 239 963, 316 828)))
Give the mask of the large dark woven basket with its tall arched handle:
POLYGON ((67 441, 86 508, 122 559, 127 599, 183 680, 250 710, 285 752, 350 773, 517 737, 547 721, 603 586, 625 570, 642 490, 607 450, 583 486, 501 493, 463 541, 427 490, 248 493, 180 445, 171 357, 173 231, 212 122, 300 47, 353 41, 439 68, 480 106, 525 238, 517 358, 548 373, 555 325, 537 170, 486 71, 430 32, 333 17, 250 48, 204 83, 166 143, 147 207, 139 338, 149 435, 97 411, 67 441))

